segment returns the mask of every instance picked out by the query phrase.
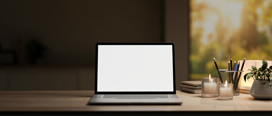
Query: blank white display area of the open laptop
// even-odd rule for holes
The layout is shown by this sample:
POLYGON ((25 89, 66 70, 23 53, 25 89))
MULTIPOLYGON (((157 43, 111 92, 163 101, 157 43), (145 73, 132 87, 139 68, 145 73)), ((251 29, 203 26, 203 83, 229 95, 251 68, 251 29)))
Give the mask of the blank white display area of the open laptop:
POLYGON ((172 45, 98 45, 97 91, 174 91, 172 45))

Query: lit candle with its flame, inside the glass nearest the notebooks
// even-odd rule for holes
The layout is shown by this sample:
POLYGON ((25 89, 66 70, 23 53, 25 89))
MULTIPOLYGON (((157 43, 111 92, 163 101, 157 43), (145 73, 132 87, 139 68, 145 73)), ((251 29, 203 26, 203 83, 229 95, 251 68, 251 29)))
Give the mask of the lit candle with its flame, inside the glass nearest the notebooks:
POLYGON ((209 82, 204 83, 204 93, 217 93, 217 83, 213 82, 211 74, 209 75, 209 82))

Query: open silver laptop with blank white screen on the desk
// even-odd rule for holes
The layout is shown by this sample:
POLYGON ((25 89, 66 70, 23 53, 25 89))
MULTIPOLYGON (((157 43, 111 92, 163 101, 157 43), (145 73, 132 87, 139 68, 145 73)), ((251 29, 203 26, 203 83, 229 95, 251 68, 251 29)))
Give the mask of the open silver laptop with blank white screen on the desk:
POLYGON ((91 104, 181 104, 174 43, 96 43, 91 104))

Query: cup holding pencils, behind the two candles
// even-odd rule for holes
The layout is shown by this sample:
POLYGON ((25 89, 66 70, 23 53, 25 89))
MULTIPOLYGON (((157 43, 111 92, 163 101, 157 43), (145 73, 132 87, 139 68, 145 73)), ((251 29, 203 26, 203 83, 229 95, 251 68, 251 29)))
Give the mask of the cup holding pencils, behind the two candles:
POLYGON ((217 72, 219 84, 224 84, 225 81, 233 84, 233 95, 240 95, 241 79, 244 71, 217 70, 217 72))

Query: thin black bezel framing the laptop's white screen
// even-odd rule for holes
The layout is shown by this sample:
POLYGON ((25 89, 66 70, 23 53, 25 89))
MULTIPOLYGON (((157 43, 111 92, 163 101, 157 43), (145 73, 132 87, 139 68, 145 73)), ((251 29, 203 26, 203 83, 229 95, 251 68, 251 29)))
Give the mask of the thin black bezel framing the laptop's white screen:
POLYGON ((176 73, 175 73, 175 46, 174 43, 96 43, 95 48, 95 91, 94 94, 176 94, 176 73), (97 72, 98 72, 98 45, 172 45, 173 57, 173 91, 116 91, 99 92, 97 91, 97 72))

